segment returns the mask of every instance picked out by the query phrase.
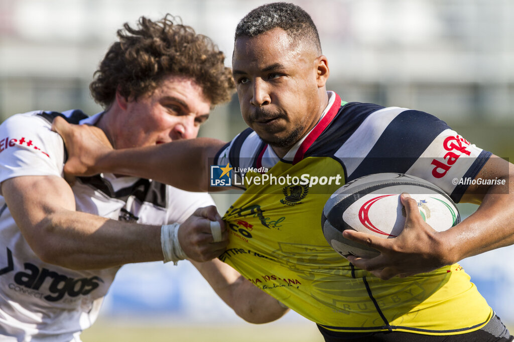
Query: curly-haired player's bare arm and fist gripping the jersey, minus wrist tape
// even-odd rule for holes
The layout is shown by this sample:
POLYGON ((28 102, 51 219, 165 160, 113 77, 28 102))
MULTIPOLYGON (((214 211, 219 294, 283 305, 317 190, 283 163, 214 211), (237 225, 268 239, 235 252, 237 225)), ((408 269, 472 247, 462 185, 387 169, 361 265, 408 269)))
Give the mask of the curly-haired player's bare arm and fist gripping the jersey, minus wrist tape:
MULTIPOLYGON (((75 211, 75 197, 58 176, 21 176, 2 182, 9 211, 40 259, 69 269, 103 269, 125 263, 163 260, 161 226, 109 220, 75 211)), ((217 216, 216 216, 217 215, 217 216)), ((179 227, 186 256, 205 261, 228 243, 213 241, 215 207, 199 208, 179 227), (184 238, 184 236, 186 238, 184 238)))

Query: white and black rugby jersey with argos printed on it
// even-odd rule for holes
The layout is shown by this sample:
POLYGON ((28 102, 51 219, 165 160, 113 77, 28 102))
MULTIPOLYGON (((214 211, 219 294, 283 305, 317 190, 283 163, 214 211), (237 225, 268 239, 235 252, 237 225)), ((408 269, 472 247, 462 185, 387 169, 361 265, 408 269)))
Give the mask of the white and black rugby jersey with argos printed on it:
MULTIPOLYGON (((0 125, 0 182, 63 176, 65 146, 50 130, 58 115, 93 124, 101 113, 87 118, 79 110, 32 111, 8 118, 0 125)), ((77 211, 144 224, 182 222, 196 208, 213 204, 205 193, 111 174, 79 177, 72 191, 77 211)), ((79 341, 80 332, 97 318, 118 269, 75 271, 41 261, 0 196, 0 340, 79 341)))

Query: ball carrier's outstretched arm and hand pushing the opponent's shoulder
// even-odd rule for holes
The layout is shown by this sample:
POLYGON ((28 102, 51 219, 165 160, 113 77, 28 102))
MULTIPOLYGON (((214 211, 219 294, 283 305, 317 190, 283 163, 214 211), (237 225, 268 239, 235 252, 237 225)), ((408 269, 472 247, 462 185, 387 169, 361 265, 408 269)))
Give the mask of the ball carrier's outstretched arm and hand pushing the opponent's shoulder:
POLYGON ((57 117, 52 130, 64 140, 67 174, 90 176, 102 172, 154 179, 187 191, 208 191, 209 158, 225 143, 210 138, 167 144, 113 149, 103 131, 94 126, 71 125, 57 117))

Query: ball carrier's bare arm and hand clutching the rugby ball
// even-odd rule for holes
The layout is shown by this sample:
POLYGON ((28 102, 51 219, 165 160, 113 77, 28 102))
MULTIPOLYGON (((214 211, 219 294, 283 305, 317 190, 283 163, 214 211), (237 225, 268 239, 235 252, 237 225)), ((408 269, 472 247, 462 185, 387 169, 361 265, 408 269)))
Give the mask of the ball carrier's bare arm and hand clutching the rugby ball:
POLYGON ((349 256, 356 267, 384 280, 435 270, 464 258, 514 244, 514 165, 493 156, 475 179, 505 180, 502 185, 472 185, 462 202, 481 203, 478 210, 444 232, 436 232, 419 214, 417 203, 402 196, 406 225, 394 239, 346 230, 347 239, 371 246, 380 252, 374 258, 349 256))

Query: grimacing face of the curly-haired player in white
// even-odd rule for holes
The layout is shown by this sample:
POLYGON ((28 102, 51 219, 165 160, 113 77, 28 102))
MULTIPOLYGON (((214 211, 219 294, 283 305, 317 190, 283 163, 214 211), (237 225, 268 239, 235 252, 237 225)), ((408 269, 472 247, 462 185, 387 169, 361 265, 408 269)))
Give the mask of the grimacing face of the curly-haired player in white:
POLYGON ((116 148, 149 146, 196 138, 209 117, 211 102, 203 89, 187 77, 170 75, 152 93, 124 103, 114 134, 116 148))

